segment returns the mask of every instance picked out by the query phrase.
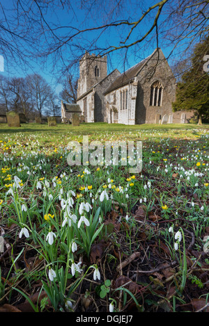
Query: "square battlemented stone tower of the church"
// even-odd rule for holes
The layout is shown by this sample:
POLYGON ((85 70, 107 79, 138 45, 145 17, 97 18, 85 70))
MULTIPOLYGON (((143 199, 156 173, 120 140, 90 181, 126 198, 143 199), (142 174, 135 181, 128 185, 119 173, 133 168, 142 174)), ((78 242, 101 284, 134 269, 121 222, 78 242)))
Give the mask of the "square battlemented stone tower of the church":
POLYGON ((95 54, 84 54, 79 61, 79 80, 77 87, 77 98, 90 90, 93 85, 99 83, 107 76, 107 56, 95 56, 95 54))

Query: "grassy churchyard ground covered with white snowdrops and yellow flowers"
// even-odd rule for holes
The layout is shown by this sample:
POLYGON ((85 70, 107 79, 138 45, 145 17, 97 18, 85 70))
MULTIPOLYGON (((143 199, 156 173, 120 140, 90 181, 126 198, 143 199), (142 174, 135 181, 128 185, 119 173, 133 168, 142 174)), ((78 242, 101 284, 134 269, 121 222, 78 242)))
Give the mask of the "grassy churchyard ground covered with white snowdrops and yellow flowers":
POLYGON ((208 142, 208 124, 0 124, 0 312, 209 311, 208 142), (141 172, 107 165, 122 140, 141 172))

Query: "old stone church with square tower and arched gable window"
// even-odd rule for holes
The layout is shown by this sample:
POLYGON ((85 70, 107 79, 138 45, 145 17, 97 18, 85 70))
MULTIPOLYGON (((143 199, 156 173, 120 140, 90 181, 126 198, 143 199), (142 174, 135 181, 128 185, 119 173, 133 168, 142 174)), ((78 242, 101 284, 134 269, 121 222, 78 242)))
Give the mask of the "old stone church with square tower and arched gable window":
POLYGON ((77 104, 85 122, 180 123, 179 113, 173 121, 175 96, 176 79, 160 48, 123 73, 107 74, 107 56, 86 52, 79 62, 77 104))

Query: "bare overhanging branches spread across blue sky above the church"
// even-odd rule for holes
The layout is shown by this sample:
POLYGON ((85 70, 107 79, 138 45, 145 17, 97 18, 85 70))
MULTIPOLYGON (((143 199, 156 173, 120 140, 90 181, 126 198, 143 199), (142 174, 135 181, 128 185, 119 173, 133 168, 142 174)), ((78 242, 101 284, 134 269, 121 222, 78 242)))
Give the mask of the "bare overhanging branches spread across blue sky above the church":
POLYGON ((171 49, 168 56, 177 49, 185 56, 208 33, 208 4, 209 0, 153 0, 151 5, 136 0, 15 0, 9 13, 1 5, 0 50, 1 44, 6 49, 14 44, 13 54, 17 50, 27 60, 52 56, 66 70, 85 51, 118 53, 125 60, 131 50, 142 57, 146 47, 163 44, 171 49))

